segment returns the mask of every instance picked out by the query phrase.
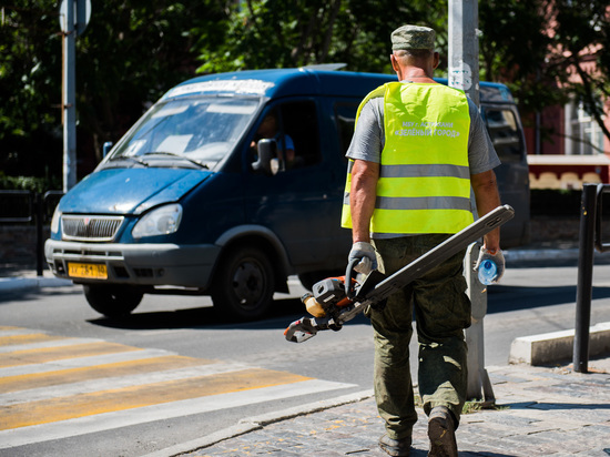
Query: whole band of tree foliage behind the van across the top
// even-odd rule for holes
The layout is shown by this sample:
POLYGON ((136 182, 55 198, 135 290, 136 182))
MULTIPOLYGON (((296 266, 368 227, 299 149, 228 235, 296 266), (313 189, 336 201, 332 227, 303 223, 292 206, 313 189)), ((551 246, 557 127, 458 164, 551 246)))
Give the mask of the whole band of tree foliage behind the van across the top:
MULTIPOLYGON (((58 176, 58 2, 13 1, 0 4, 0 169, 58 176)), ((437 30, 441 74, 447 11, 447 0, 92 2, 91 21, 77 39, 79 174, 99 161, 103 142, 116 141, 164 91, 197 73, 337 62, 392 73, 392 30, 417 23, 437 30)), ((488 0, 479 2, 479 28, 481 79, 508 83, 523 113, 576 98, 603 124, 601 100, 610 97, 607 0, 488 0)))

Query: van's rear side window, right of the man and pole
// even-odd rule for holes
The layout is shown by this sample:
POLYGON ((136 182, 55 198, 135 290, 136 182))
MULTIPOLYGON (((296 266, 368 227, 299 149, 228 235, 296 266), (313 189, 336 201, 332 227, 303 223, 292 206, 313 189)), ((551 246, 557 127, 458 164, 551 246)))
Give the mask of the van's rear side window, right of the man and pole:
POLYGON ((520 160, 523 148, 515 113, 501 108, 486 108, 484 118, 500 161, 520 160))

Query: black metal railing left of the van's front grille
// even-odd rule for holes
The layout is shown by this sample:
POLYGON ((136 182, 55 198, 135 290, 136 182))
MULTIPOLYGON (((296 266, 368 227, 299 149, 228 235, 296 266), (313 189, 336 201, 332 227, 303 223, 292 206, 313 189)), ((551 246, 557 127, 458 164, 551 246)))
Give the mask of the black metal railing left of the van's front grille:
POLYGON ((44 268, 44 223, 49 222, 62 191, 0 191, 2 212, 0 224, 35 224, 35 270, 42 276, 44 268))

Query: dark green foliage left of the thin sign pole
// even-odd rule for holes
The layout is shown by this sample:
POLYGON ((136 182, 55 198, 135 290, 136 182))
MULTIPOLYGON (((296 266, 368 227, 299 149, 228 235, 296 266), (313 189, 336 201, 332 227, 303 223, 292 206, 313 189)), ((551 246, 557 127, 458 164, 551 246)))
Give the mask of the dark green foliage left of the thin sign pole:
POLYGON ((55 2, 2 6, 0 169, 61 175, 61 37, 55 2), (50 160, 48 160, 50 159, 50 160))

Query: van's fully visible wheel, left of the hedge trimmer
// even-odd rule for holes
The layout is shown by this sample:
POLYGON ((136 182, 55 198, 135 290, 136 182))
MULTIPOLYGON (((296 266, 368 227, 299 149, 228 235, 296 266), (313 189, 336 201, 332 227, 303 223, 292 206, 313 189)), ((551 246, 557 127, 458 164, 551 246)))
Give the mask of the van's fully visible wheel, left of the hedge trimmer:
POLYGON ((273 303, 273 273, 263 251, 251 246, 230 251, 214 275, 211 290, 214 307, 231 319, 262 317, 273 303))

